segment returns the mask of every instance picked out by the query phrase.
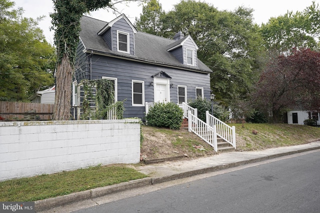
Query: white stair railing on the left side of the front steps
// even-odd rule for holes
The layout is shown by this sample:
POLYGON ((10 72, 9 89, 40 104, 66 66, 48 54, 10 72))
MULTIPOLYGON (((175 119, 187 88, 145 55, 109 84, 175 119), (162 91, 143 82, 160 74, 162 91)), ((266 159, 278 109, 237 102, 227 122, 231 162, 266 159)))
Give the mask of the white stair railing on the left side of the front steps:
POLYGON ((188 130, 193 132, 203 141, 208 143, 213 147, 214 151, 217 152, 217 142, 216 142, 216 129, 215 126, 209 126, 202 120, 195 117, 191 111, 188 111, 188 130))

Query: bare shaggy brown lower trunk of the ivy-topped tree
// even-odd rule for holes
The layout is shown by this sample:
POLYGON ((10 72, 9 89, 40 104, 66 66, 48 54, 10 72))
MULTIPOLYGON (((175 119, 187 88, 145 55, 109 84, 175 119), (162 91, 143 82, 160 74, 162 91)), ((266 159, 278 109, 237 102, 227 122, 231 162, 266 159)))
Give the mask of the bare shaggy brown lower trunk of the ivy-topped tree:
POLYGON ((55 101, 53 120, 70 119, 71 88, 73 69, 67 55, 63 55, 61 63, 56 67, 55 101))

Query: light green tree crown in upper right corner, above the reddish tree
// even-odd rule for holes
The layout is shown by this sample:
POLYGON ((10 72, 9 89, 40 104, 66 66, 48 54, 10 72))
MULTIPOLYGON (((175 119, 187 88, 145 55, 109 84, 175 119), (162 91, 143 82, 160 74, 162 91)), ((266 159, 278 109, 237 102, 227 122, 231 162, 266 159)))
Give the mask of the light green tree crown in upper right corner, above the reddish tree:
POLYGON ((319 6, 314 2, 303 11, 288 11, 284 15, 271 17, 261 25, 264 45, 276 54, 287 53, 294 47, 317 49, 318 20, 319 6))

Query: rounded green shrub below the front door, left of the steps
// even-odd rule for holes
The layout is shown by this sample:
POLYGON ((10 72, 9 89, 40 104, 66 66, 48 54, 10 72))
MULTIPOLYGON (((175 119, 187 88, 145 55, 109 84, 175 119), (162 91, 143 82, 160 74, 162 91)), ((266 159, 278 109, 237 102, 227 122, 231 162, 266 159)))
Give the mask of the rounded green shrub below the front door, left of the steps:
POLYGON ((182 124, 182 109, 175 103, 154 103, 145 116, 147 125, 179 129, 182 124))

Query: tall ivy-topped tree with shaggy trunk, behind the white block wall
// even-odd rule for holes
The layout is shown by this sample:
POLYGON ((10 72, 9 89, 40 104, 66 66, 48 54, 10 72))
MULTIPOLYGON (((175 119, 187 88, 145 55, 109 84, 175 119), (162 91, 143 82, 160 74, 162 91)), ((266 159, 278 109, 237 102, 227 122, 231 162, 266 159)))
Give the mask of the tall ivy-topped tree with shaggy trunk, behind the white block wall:
POLYGON ((110 6, 110 0, 53 0, 52 29, 57 48, 54 120, 70 118, 71 84, 83 13, 110 6))

